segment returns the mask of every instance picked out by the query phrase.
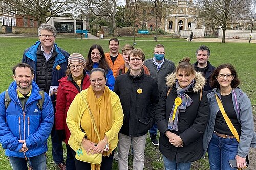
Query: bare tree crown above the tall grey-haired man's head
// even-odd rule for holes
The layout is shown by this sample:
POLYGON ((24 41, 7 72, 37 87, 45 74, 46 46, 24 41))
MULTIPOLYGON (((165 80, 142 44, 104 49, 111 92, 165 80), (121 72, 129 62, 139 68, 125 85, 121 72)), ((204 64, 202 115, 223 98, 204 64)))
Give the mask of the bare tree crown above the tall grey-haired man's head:
POLYGON ((10 8, 2 6, 4 10, 19 15, 39 23, 48 22, 52 17, 62 15, 66 16, 67 11, 76 7, 74 0, 2 0, 10 8))

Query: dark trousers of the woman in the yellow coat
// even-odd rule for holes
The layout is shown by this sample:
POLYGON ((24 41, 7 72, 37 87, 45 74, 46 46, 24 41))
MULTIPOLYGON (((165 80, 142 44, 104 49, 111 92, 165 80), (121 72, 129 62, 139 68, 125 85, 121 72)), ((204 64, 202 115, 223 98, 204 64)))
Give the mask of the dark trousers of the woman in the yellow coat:
MULTIPOLYGON (((114 157, 115 150, 112 151, 112 155, 102 156, 102 162, 100 166, 100 170, 110 170, 112 169, 113 164, 113 157, 114 157)), ((72 154, 75 158, 76 152, 72 150, 72 154)), ((91 164, 87 162, 79 161, 75 158, 76 169, 83 169, 83 170, 91 170, 91 164)))

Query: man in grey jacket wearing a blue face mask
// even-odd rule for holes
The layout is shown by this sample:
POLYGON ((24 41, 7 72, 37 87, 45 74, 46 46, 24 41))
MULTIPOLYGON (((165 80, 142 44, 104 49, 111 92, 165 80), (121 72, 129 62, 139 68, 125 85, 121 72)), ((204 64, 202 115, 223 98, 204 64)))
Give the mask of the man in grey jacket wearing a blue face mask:
MULTIPOLYGON (((157 80, 160 96, 166 87, 165 77, 175 71, 175 64, 165 58, 163 44, 157 44, 153 52, 154 57, 147 59, 144 65, 150 70, 150 75, 157 80)), ((157 125, 154 124, 150 129, 150 139, 153 145, 158 145, 157 125)))

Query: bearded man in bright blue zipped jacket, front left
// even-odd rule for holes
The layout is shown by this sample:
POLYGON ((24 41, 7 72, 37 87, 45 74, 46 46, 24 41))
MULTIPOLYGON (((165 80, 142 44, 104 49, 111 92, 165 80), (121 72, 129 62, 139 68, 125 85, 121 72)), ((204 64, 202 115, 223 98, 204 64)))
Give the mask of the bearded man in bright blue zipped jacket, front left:
POLYGON ((28 64, 19 63, 12 71, 15 81, 0 95, 0 143, 13 169, 27 169, 27 158, 35 169, 46 169, 47 139, 54 122, 51 99, 40 95, 28 64))

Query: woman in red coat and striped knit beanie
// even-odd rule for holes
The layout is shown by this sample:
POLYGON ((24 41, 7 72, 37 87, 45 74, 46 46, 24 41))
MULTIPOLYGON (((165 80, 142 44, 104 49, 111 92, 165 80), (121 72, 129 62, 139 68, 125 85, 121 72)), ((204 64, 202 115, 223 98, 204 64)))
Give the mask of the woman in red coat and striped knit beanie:
POLYGON ((61 140, 66 143, 66 168, 76 169, 72 149, 68 145, 70 131, 66 124, 67 111, 76 94, 90 86, 89 76, 84 71, 86 60, 80 53, 73 53, 68 58, 67 76, 59 80, 58 97, 56 103, 56 130, 61 140))

